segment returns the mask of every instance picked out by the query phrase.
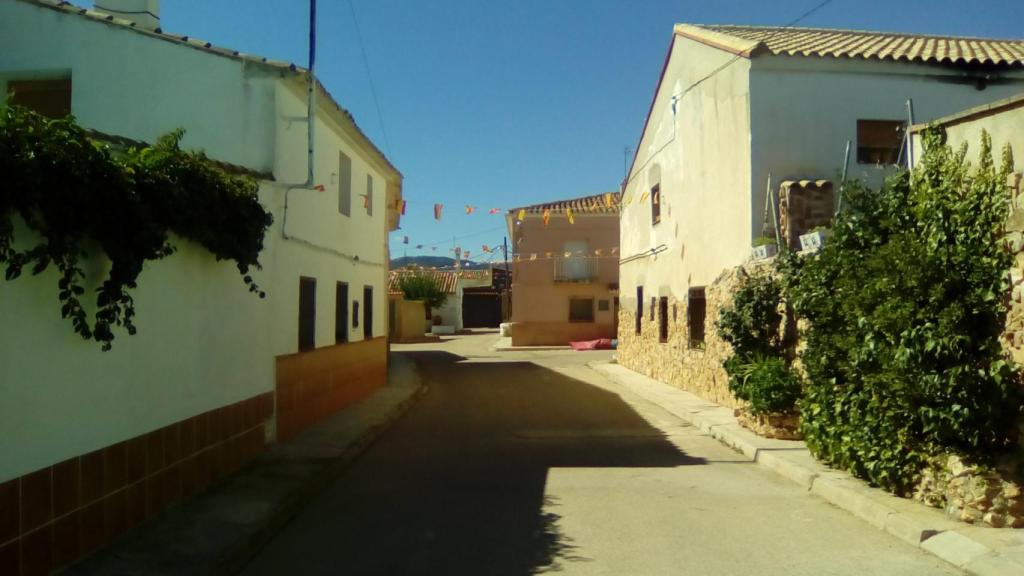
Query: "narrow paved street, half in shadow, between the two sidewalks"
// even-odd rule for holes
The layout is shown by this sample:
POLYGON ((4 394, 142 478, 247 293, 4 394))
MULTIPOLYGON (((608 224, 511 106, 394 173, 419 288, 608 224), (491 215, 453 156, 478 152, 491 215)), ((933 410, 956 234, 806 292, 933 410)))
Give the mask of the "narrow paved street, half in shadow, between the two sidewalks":
POLYGON ((586 366, 612 353, 496 339, 393 346, 429 393, 245 574, 957 573, 586 366))

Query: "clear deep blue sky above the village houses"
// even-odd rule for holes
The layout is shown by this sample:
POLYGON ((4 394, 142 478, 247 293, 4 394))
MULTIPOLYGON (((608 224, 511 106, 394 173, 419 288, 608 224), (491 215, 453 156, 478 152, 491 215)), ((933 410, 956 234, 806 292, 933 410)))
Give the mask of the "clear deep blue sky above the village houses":
MULTIPOLYGON (((319 0, 317 75, 404 175, 392 255, 450 255, 456 237, 477 259, 504 236, 489 208, 617 190, 673 24, 782 26, 819 1, 319 0)), ((161 9, 168 32, 306 64, 304 0, 161 9)), ((834 0, 800 26, 1019 38, 1021 23, 1021 0, 834 0)))

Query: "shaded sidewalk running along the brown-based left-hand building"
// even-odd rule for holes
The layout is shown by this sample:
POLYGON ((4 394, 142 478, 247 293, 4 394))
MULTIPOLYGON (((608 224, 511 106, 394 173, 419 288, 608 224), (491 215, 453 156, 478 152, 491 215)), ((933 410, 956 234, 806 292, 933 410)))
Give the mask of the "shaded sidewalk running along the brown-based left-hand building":
POLYGON ((392 354, 385 387, 287 443, 269 445, 225 482, 165 510, 65 574, 240 571, 424 392, 413 361, 392 354))

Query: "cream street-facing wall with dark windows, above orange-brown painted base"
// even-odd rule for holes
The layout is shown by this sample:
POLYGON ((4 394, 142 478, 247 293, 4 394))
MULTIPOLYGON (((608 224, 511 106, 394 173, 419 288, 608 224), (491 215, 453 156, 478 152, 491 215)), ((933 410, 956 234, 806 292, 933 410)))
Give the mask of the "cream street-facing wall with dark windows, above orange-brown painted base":
MULTIPOLYGON (((282 81, 275 88, 278 104, 276 160, 279 182, 274 197, 274 221, 285 225, 285 194, 290 184, 306 179, 306 100, 293 83, 282 81)), ((322 102, 324 104, 324 102, 322 102)), ((294 189, 289 195, 287 234, 274 231, 280 242, 274 255, 274 324, 282 328, 274 336, 274 354, 298 349, 299 278, 316 280, 316 345, 335 342, 335 290, 338 282, 348 284, 349 341, 364 339, 362 301, 365 286, 373 287, 374 336, 387 334, 387 233, 384 173, 371 164, 369 155, 328 117, 321 107, 317 117, 314 179, 324 192, 294 189), (349 216, 338 210, 338 153, 352 161, 352 203, 349 216), (362 196, 367 174, 374 179, 373 210, 367 214, 362 196), (356 259, 357 258, 357 259, 356 259), (359 325, 352 326, 351 301, 359 302, 359 325)))

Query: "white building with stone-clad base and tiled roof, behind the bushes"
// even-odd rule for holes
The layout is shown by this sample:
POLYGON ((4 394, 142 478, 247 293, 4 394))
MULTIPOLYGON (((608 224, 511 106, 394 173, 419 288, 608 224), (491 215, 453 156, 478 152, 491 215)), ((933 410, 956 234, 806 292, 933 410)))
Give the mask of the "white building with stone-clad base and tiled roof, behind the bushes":
POLYGON ((849 141, 849 177, 880 184, 907 100, 926 122, 1022 89, 1022 41, 676 26, 625 182, 620 361, 684 385, 674 367, 700 362, 715 320, 705 289, 750 259, 769 175, 776 202, 781 189, 827 219, 819 180, 838 181, 849 141))

